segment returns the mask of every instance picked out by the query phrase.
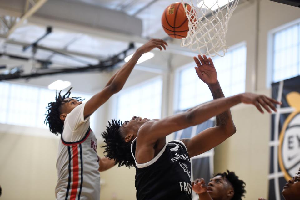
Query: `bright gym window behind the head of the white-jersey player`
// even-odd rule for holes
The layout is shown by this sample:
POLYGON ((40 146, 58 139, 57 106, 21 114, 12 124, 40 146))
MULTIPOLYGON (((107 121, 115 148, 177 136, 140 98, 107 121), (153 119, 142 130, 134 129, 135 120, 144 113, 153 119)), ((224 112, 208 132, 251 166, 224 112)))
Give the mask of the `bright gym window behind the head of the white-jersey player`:
MULTIPOLYGON (((63 91, 66 92, 66 91, 63 91)), ((63 93, 62 92, 62 93, 63 93)), ((0 82, 0 123, 18 126, 48 128, 44 124, 46 106, 55 101, 55 90, 0 82)), ((71 92, 71 97, 82 97, 87 101, 92 95, 71 92)), ((91 128, 95 126, 95 116, 91 116, 91 128)))

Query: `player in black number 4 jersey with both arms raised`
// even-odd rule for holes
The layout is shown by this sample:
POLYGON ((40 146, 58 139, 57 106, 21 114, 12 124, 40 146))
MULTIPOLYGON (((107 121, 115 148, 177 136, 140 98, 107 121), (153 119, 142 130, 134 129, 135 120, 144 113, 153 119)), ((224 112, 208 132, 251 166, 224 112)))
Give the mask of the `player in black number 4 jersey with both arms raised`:
POLYGON ((136 116, 123 124, 113 120, 102 134, 106 157, 114 159, 119 166, 136 167, 138 200, 191 199, 190 158, 212 149, 236 132, 230 107, 242 102, 255 105, 263 113, 261 106, 271 112, 271 109, 276 111, 273 103, 280 104, 265 95, 251 93, 224 98, 212 59, 198 55, 194 61, 196 73, 208 85, 213 101, 162 120, 136 116), (215 127, 191 139, 166 143, 167 135, 216 115, 215 127))

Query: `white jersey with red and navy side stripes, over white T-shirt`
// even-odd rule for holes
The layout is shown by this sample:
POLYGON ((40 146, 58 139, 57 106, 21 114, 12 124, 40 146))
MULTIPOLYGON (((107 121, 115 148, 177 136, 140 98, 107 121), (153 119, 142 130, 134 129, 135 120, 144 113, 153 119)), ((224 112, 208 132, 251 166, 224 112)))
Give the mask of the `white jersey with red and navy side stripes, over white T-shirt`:
POLYGON ((64 122, 56 163, 55 196, 59 200, 100 199, 97 139, 89 128, 89 118, 83 119, 84 105, 74 108, 64 122))

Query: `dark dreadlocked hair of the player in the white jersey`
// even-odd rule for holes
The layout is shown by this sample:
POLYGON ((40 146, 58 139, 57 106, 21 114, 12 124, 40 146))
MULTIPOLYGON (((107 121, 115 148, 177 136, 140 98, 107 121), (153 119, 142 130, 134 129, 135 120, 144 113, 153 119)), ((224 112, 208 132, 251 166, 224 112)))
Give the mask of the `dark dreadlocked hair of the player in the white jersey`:
MULTIPOLYGON (((63 121, 60 119, 60 106, 62 105, 63 102, 68 102, 64 100, 65 98, 68 98, 71 94, 71 89, 72 87, 64 94, 63 96, 60 94, 62 90, 57 93, 56 90, 56 96, 55 96, 55 101, 50 102, 48 106, 46 107, 48 110, 46 111, 46 119, 44 123, 46 125, 49 125, 49 129, 52 133, 58 136, 58 133, 61 134, 63 130, 63 121)), ((83 101, 84 99, 81 99, 79 97, 72 97, 73 99, 76 99, 78 101, 83 101)))

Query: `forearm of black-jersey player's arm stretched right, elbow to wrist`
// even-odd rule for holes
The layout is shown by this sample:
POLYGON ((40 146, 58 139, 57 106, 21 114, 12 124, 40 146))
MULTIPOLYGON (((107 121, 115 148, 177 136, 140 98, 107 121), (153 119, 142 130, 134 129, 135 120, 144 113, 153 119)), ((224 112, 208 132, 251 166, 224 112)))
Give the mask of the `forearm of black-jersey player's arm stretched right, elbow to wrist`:
POLYGON ((240 95, 218 98, 188 110, 187 120, 190 121, 191 126, 194 126, 210 119, 213 116, 220 115, 239 103, 241 103, 240 95))

